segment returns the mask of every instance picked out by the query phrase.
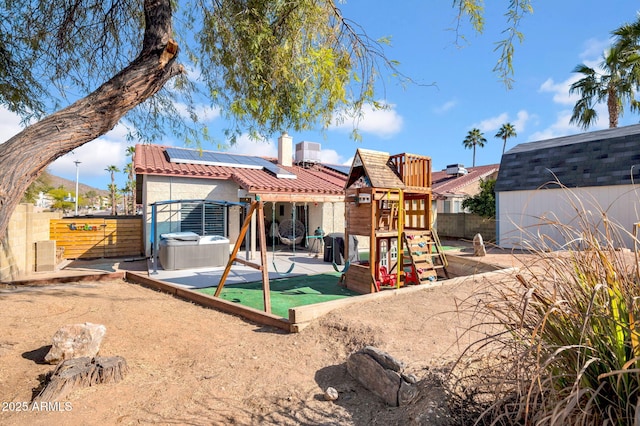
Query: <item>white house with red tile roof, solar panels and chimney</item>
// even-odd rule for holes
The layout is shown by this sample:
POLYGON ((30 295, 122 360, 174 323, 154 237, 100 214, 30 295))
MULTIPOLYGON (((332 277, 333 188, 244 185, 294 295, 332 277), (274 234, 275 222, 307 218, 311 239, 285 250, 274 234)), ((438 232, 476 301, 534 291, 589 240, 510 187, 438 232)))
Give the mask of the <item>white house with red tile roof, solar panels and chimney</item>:
MULTIPOLYGON (((271 236, 277 235, 277 225, 285 220, 302 223, 304 232, 310 235, 317 228, 326 234, 344 232, 348 169, 321 164, 316 155, 318 144, 309 142, 296 145, 294 161, 292 145, 289 135, 280 136, 277 159, 136 145, 134 169, 138 199, 145 206, 143 238, 147 255, 153 234, 151 206, 168 200, 247 202, 259 198, 265 202, 266 229, 271 236)), ((188 217, 205 217, 214 226, 209 232, 227 237, 231 244, 238 237, 245 214, 241 206, 214 206, 207 210, 206 206, 184 203, 163 208, 157 222, 158 234, 184 231, 188 217)), ((255 224, 251 229, 251 235, 255 236, 255 224)), ((251 242, 255 251, 255 237, 251 242)))

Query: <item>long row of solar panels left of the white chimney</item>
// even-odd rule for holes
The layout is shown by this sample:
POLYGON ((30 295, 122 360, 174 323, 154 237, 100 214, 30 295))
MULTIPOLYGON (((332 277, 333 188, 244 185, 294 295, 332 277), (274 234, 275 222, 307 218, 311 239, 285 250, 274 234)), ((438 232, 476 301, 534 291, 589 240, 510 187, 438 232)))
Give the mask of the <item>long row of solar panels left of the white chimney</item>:
POLYGON ((203 164, 207 166, 236 167, 241 169, 265 169, 279 179, 295 179, 296 175, 264 158, 195 149, 166 148, 171 163, 203 164))

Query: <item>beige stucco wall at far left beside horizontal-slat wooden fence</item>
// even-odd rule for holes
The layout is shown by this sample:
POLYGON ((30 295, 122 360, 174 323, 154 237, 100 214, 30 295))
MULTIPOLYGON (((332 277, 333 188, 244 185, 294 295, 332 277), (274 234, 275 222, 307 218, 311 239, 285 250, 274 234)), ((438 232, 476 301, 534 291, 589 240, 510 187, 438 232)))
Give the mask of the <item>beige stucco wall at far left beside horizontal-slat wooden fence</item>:
POLYGON ((35 243, 49 240, 49 221, 59 212, 38 212, 33 204, 19 204, 0 242, 0 280, 10 281, 35 271, 35 243))

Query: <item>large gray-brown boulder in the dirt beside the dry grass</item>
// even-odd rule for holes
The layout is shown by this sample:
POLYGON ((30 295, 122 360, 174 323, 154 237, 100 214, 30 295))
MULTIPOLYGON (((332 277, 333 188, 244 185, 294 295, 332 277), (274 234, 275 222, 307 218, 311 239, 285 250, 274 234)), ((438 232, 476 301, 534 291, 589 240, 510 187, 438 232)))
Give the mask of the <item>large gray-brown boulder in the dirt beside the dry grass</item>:
POLYGON ((347 371, 389 406, 408 405, 418 396, 415 376, 404 373, 404 364, 372 346, 351 354, 347 371))

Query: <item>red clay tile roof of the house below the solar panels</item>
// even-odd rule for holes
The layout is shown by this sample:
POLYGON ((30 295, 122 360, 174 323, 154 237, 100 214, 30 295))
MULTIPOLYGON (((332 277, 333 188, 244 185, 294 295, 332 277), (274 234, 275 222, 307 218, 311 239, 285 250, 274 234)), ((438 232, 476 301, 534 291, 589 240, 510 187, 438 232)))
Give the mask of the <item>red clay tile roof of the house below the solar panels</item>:
POLYGON ((171 163, 165 154, 166 148, 160 145, 136 145, 136 174, 233 180, 250 193, 344 194, 347 176, 322 165, 312 168, 280 165, 297 178, 279 179, 263 169, 171 163))

